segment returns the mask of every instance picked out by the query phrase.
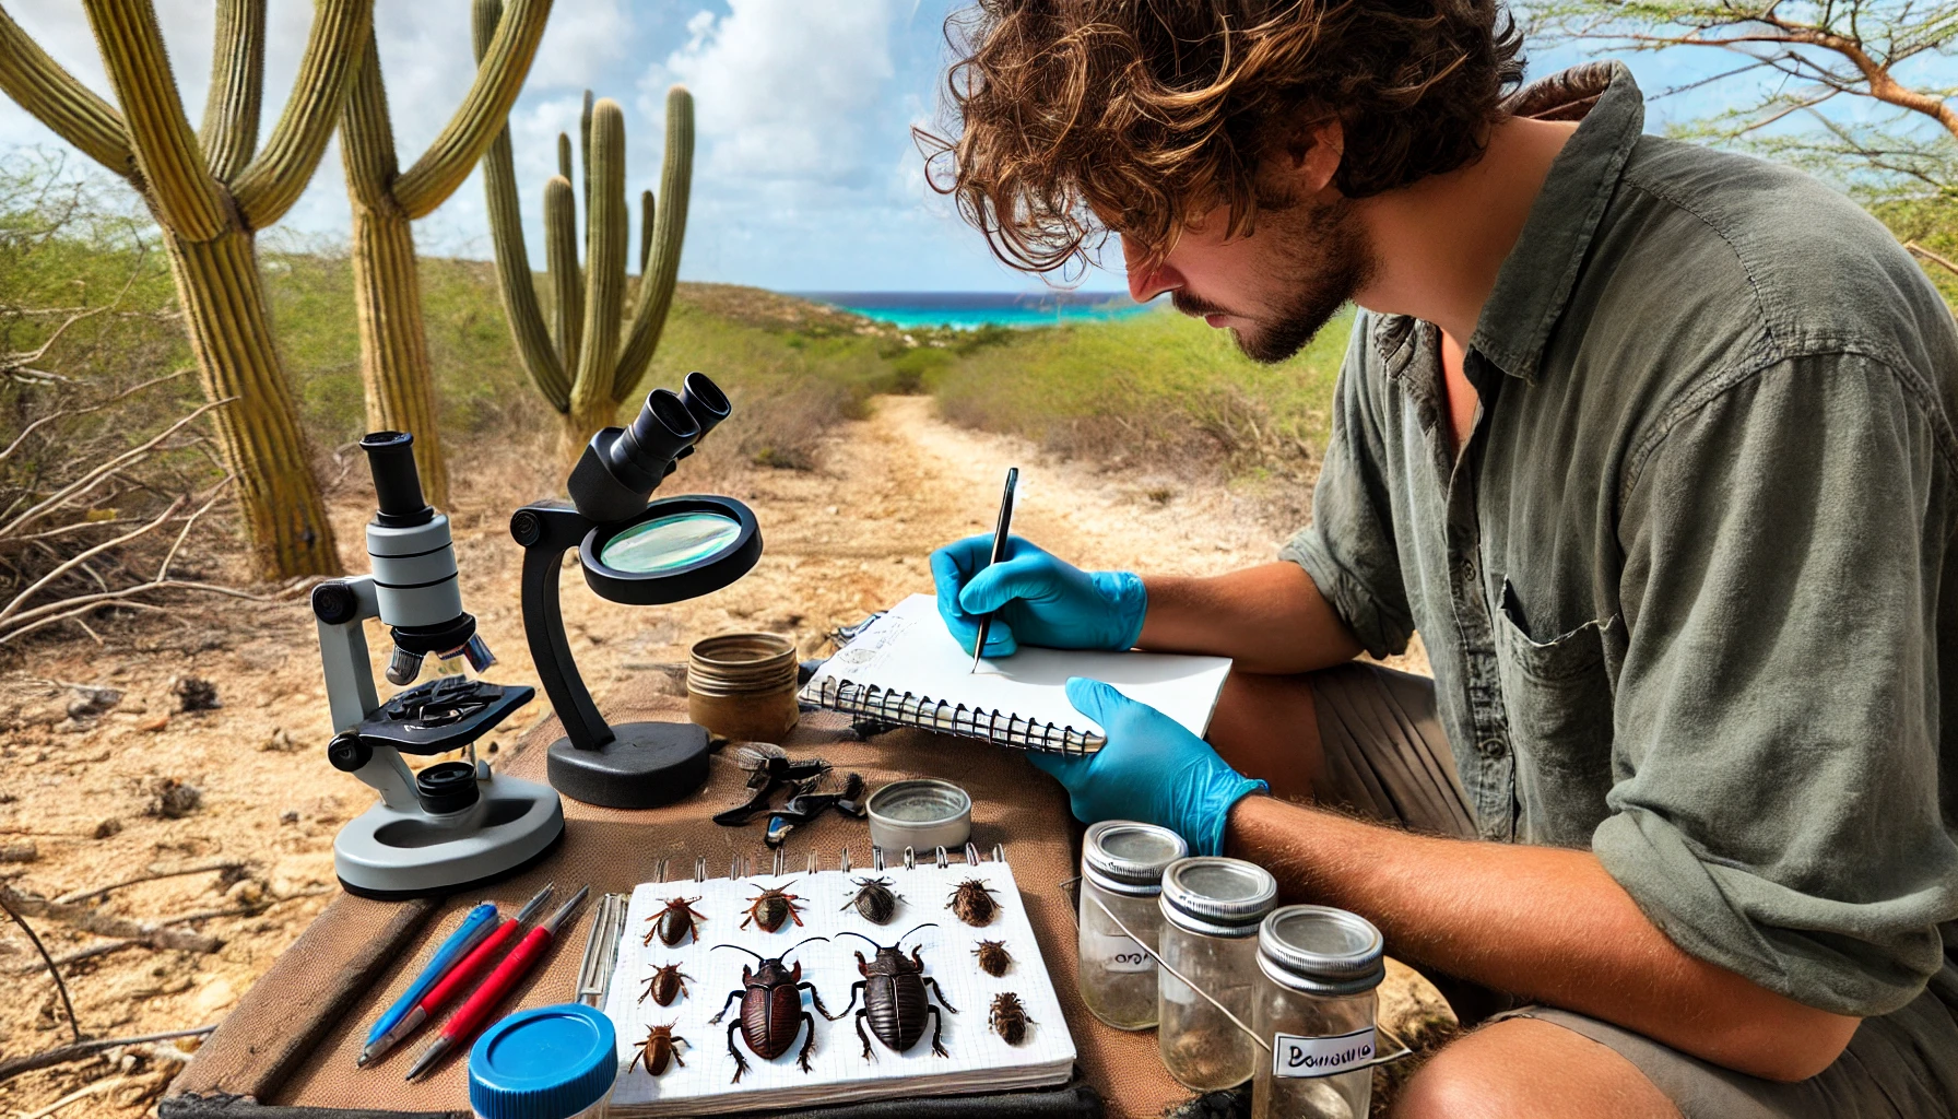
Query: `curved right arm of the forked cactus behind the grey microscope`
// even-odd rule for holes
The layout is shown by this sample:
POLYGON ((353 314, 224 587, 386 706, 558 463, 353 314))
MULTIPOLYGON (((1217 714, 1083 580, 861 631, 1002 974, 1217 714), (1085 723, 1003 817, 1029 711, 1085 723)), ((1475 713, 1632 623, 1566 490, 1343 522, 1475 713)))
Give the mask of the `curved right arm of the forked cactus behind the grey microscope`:
POLYGON ((505 18, 497 20, 490 49, 476 67, 468 96, 429 151, 396 180, 394 200, 401 204, 403 214, 409 218, 431 214, 470 176, 476 161, 503 129, 509 106, 517 104, 517 90, 531 74, 531 59, 536 57, 536 43, 544 37, 548 18, 550 0, 511 0, 505 18))

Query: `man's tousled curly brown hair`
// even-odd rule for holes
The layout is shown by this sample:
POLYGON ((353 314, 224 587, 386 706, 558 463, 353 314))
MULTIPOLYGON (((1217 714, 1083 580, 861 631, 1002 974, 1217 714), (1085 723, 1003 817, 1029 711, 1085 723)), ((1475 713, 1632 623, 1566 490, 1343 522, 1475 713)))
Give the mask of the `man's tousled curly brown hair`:
POLYGON ((926 178, 1030 272, 1108 229, 1161 259, 1218 206, 1247 233, 1290 202, 1259 159, 1329 118, 1347 198, 1453 170, 1523 76, 1502 0, 979 0, 946 37, 956 137, 914 129, 926 178))

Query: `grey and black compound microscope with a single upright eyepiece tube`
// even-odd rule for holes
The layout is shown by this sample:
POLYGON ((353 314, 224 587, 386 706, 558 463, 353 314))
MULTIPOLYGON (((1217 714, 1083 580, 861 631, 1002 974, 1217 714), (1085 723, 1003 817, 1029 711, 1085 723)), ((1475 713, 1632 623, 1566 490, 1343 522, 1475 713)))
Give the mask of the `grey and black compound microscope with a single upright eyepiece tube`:
POLYGON ((333 841, 333 868, 349 894, 380 900, 446 894, 501 878, 542 858, 564 835, 564 805, 550 788, 495 774, 474 743, 531 702, 525 686, 443 676, 397 692, 374 690, 362 625, 378 617, 394 637, 388 680, 413 684, 423 660, 462 657, 476 672, 495 658, 462 609, 448 517, 429 508, 415 472, 415 437, 376 431, 360 441, 380 511, 366 527, 374 574, 313 588, 319 658, 335 737, 333 768, 380 794, 333 841), (419 774, 401 754, 468 749, 470 760, 419 774))

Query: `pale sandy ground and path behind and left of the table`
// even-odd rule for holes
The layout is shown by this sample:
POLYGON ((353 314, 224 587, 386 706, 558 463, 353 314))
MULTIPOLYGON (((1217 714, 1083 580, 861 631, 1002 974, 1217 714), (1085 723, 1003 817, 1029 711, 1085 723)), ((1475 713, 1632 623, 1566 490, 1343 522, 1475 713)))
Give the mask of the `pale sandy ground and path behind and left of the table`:
MULTIPOLYGON (((546 459, 513 453, 458 470, 450 515, 464 604, 501 658, 488 672, 497 682, 536 682, 517 604, 521 551, 507 521, 515 506, 548 496, 536 468, 546 459)), ((928 592, 932 547, 991 531, 1010 464, 1022 466, 1014 529, 1083 564, 1222 572, 1269 560, 1282 535, 1259 517, 1255 494, 1055 462, 1020 441, 938 421, 928 398, 879 398, 871 419, 836 433, 820 470, 707 462, 670 484, 674 492, 734 494, 756 510, 766 555, 732 588, 676 608, 623 608, 597 600, 576 570, 566 570, 566 627, 593 694, 603 702, 611 686, 683 660, 687 645, 730 629, 769 629, 793 635, 805 655, 826 653, 822 633, 830 627, 928 592)), ((352 549, 350 570, 366 568, 358 541, 370 511, 366 486, 341 486, 335 515, 343 549, 352 549)), ((378 627, 370 641, 384 645, 378 627)), ((538 700, 493 741, 515 741, 544 715, 538 700)), ((108 647, 78 637, 0 678, 0 882, 61 898, 145 874, 229 864, 117 888, 94 901, 100 915, 166 923, 221 947, 131 943, 67 964, 86 1035, 221 1021, 325 907, 337 890, 333 835, 372 800, 325 762, 329 735, 303 598, 225 604, 110 637, 108 647), (172 688, 182 678, 215 684, 223 705, 180 711, 172 688), (121 698, 108 711, 70 717, 80 692, 69 684, 112 688, 121 698), (168 782, 194 786, 196 805, 164 796, 168 782)), ((116 945, 49 917, 33 925, 55 956, 116 945)), ((25 937, 0 929, 0 976, 14 990, 0 1005, 4 1062, 65 1043, 69 1025, 25 937)), ((1425 984, 1404 972, 1384 990, 1388 1019, 1433 1005, 1425 984)), ((170 1046, 139 1045, 29 1072, 0 1084, 0 1109, 41 1119, 51 1103, 86 1092, 59 1115, 139 1115, 155 1109, 176 1060, 170 1046)))

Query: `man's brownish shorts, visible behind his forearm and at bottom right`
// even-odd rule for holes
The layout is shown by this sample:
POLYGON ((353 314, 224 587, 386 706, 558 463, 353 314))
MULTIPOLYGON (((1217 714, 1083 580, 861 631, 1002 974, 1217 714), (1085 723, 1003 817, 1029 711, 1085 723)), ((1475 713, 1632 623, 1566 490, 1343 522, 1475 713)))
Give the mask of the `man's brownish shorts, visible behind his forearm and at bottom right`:
MULTIPOLYGON (((1416 831, 1474 839, 1474 817, 1435 711, 1433 680, 1367 662, 1314 672, 1308 680, 1326 753, 1324 800, 1416 831)), ((1799 1084, 1731 1072, 1566 1009, 1525 1005, 1498 1017, 1549 1021, 1611 1048, 1686 1119, 1958 1115, 1958 1082, 1950 1080, 1958 1015, 1933 992, 1895 1013, 1864 1019, 1848 1050, 1799 1084)))

